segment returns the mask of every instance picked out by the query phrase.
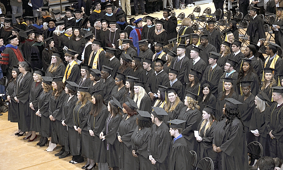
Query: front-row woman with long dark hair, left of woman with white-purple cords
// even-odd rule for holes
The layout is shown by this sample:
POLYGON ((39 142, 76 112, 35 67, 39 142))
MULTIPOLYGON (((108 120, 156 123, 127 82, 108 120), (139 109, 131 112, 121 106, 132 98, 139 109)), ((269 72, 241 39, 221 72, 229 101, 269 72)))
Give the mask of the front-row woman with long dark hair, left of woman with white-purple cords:
MULTIPOLYGON (((89 165, 85 165, 88 167, 91 167, 92 165, 95 166, 95 162, 106 162, 105 156, 104 160, 101 160, 103 158, 101 155, 104 153, 97 151, 100 151, 102 147, 103 141, 99 139, 99 133, 104 128, 104 123, 108 117, 109 111, 107 110, 107 106, 104 103, 102 95, 99 94, 99 91, 96 91, 92 94, 92 103, 93 105, 90 115, 88 116, 87 128, 90 136, 92 136, 92 141, 90 142, 89 148, 93 155, 90 153, 89 165)), ((98 165, 99 164, 100 163, 98 163, 98 165)))

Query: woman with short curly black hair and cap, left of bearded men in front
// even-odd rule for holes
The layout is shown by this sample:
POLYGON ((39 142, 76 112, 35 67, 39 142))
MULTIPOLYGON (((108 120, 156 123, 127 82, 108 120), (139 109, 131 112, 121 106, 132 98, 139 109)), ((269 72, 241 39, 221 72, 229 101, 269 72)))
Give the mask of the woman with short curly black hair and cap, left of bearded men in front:
POLYGON ((153 168, 147 152, 148 137, 151 132, 151 115, 147 111, 137 112, 139 113, 136 116, 137 127, 131 136, 131 143, 132 155, 138 158, 139 167, 134 170, 149 170, 153 168))

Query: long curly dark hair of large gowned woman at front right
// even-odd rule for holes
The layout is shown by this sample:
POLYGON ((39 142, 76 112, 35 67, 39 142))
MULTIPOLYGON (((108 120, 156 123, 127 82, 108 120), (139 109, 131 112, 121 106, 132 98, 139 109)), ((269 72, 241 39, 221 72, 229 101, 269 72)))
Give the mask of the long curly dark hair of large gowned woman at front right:
POLYGON ((242 118, 240 116, 240 111, 237 107, 233 106, 233 104, 231 104, 229 102, 226 102, 225 113, 226 114, 223 114, 219 118, 219 121, 223 120, 225 117, 227 118, 227 121, 225 122, 225 126, 223 127, 223 129, 225 129, 225 127, 227 125, 229 125, 229 131, 230 131, 233 120, 235 118, 237 118, 241 121, 241 123, 243 125, 243 132, 245 132, 245 128, 244 128, 245 126, 244 126, 244 123, 243 123, 242 118))

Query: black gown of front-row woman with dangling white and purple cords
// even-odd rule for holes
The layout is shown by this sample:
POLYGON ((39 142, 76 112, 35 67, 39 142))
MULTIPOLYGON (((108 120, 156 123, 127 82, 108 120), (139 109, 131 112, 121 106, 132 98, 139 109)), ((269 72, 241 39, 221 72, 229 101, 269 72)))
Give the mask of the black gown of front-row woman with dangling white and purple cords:
MULTIPOLYGON (((117 114, 115 117, 108 115, 102 130, 105 140, 102 142, 101 151, 106 156, 106 162, 109 167, 119 167, 119 141, 117 130, 122 120, 122 116, 117 114)), ((101 157, 102 158, 102 157, 101 157)), ((105 163, 105 162, 101 162, 105 163)))

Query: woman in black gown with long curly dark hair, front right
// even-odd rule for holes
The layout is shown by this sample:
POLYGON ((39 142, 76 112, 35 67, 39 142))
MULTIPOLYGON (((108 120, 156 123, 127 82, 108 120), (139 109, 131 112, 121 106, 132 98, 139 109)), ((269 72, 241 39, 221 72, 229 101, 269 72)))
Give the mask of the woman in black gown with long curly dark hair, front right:
POLYGON ((216 166, 219 170, 248 169, 245 130, 236 105, 238 101, 228 100, 231 102, 225 103, 223 115, 214 130, 212 146, 213 151, 217 152, 216 166))

